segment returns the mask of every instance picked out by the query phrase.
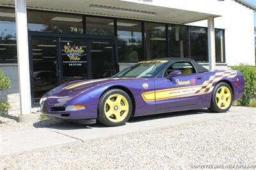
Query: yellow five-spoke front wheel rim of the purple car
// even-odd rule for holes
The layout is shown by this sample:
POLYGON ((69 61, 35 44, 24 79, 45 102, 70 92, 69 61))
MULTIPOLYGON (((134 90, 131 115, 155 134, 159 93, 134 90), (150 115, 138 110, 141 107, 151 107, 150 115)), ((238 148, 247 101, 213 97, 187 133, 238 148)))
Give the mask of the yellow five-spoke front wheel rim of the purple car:
POLYGON ((129 112, 127 99, 120 94, 110 95, 104 105, 104 113, 108 120, 113 122, 123 121, 129 112))

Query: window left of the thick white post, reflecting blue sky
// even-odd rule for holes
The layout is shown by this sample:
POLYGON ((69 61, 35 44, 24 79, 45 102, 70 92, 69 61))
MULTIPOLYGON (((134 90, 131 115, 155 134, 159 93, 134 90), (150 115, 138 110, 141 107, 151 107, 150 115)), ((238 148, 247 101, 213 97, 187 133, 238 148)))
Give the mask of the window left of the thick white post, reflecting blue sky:
POLYGON ((0 63, 17 63, 15 12, 0 8, 0 63))

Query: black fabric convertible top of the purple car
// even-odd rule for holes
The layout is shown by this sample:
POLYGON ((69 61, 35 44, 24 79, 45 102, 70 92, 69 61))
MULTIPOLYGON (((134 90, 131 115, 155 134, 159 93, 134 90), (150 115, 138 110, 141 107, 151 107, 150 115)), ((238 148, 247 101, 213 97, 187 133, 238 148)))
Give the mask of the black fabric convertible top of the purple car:
POLYGON ((194 59, 190 58, 156 58, 156 59, 151 59, 152 61, 154 60, 167 60, 170 62, 176 62, 176 61, 189 61, 193 63, 193 65, 196 67, 196 70, 198 73, 203 73, 203 72, 209 72, 207 68, 204 68, 204 66, 199 65, 194 59))

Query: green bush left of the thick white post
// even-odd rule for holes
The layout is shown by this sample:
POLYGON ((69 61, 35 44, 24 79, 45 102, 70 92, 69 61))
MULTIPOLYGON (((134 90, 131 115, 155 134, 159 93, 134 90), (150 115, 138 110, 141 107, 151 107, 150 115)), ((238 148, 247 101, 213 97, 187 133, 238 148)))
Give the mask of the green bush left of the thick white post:
POLYGON ((4 72, 0 71, 0 112, 6 113, 10 108, 10 104, 3 99, 3 92, 10 88, 10 79, 4 77, 4 72))

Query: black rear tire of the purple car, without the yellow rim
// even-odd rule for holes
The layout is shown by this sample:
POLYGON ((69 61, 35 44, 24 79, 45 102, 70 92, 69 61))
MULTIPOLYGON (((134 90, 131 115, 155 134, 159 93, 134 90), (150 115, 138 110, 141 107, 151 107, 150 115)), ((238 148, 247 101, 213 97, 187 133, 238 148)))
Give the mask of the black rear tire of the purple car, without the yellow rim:
MULTIPOLYGON (((222 98, 222 96, 221 96, 222 98)), ((229 99, 224 99, 224 100, 228 100, 229 99)), ((233 91, 230 88, 230 86, 225 83, 225 82, 220 82, 218 84, 216 84, 216 86, 214 87, 214 89, 212 90, 212 98, 211 98, 211 106, 208 108, 210 111, 212 112, 227 112, 228 109, 230 109, 231 105, 233 102, 233 91), (230 91, 230 102, 228 102, 229 104, 226 107, 219 107, 217 104, 217 101, 219 100, 218 98, 216 98, 216 95, 218 92, 220 92, 220 88, 226 87, 229 91, 230 91)), ((222 105, 222 104, 221 104, 222 105)))

